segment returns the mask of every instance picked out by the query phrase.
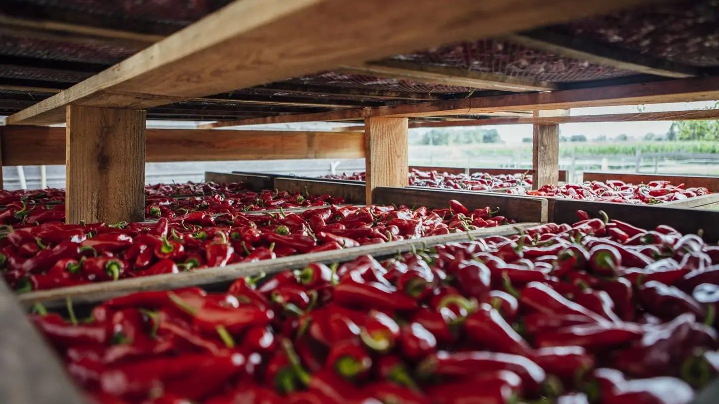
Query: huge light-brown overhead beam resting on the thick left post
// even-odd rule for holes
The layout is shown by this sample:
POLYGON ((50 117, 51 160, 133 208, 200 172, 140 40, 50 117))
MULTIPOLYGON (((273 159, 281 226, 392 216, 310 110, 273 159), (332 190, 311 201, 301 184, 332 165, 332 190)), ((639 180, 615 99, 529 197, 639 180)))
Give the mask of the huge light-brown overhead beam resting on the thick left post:
POLYGON ((57 124, 68 104, 146 109, 654 1, 236 0, 8 124, 57 124))

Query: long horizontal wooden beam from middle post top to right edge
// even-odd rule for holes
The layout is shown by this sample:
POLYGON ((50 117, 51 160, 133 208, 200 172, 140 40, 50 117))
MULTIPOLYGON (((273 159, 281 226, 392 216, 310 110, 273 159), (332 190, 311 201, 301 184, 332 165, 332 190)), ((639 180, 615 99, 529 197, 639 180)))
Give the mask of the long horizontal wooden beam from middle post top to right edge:
MULTIPOLYGON (((719 77, 681 78, 655 83, 607 86, 600 89, 474 97, 421 104, 378 106, 371 116, 432 116, 482 114, 487 111, 569 109, 586 106, 711 101, 719 98, 719 77)), ((347 112, 347 111, 345 111, 347 112)))

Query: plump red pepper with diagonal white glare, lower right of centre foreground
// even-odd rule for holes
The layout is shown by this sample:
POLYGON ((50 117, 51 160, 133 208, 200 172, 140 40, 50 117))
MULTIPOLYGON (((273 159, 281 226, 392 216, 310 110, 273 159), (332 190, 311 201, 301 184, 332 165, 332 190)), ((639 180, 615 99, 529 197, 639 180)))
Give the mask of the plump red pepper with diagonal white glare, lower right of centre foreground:
POLYGON ((526 355, 530 349, 502 315, 486 304, 467 317, 464 329, 471 341, 496 352, 526 355))

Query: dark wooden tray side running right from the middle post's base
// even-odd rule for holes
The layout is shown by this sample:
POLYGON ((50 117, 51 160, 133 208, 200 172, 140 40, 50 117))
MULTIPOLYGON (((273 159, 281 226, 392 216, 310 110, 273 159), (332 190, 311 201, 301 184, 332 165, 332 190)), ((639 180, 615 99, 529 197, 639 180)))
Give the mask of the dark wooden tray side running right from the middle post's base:
POLYGON ((375 203, 446 208, 450 199, 464 203, 470 210, 490 206, 500 208, 500 215, 516 221, 546 221, 547 202, 543 198, 505 195, 467 190, 441 190, 434 188, 375 188, 375 203))

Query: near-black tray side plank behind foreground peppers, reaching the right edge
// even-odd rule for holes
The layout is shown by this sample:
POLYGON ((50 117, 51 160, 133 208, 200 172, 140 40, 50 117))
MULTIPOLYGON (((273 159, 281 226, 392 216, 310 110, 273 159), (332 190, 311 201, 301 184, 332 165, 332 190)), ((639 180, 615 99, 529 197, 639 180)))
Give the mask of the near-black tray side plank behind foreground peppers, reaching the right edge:
POLYGON ((659 224, 672 226, 684 234, 703 229, 707 242, 719 241, 719 226, 715 225, 719 223, 719 211, 558 199, 554 203, 554 221, 574 223, 578 220, 576 212, 580 210, 592 217, 598 217, 599 211, 605 211, 610 219, 627 221, 646 229, 654 229, 659 224))

